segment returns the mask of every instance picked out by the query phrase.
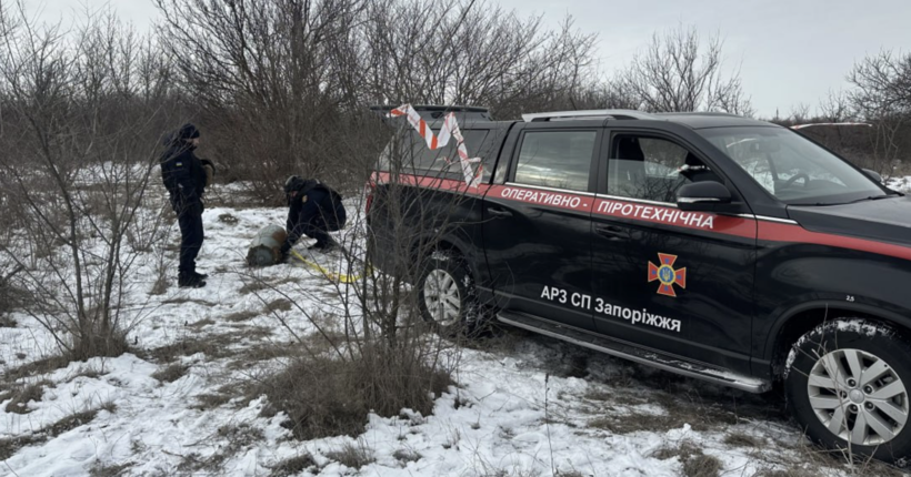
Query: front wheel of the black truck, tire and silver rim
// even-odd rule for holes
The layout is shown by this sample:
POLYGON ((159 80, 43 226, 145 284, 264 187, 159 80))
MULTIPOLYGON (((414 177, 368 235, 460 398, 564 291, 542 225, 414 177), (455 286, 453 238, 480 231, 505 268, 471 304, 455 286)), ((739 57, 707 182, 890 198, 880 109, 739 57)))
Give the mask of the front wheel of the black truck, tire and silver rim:
POLYGON ((788 362, 788 408, 811 439, 889 463, 911 456, 911 344, 892 327, 829 322, 803 335, 788 362))

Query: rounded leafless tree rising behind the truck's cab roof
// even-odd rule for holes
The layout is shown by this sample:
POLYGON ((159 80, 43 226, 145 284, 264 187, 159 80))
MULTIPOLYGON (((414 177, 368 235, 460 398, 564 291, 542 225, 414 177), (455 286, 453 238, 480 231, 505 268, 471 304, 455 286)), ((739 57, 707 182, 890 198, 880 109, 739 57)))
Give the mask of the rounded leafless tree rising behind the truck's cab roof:
POLYGON ((725 74, 719 35, 703 44, 694 28, 654 33, 618 81, 648 111, 723 111, 752 115, 739 71, 725 74))

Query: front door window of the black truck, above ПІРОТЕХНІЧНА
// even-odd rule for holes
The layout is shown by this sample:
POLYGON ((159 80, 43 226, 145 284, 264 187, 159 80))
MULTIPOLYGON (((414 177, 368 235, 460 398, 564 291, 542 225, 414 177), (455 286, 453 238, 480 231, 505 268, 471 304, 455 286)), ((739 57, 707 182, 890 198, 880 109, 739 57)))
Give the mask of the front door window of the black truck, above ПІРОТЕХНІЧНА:
POLYGON ((722 180, 681 145, 660 138, 619 134, 608 161, 608 193, 654 202, 677 202, 691 182, 722 180))

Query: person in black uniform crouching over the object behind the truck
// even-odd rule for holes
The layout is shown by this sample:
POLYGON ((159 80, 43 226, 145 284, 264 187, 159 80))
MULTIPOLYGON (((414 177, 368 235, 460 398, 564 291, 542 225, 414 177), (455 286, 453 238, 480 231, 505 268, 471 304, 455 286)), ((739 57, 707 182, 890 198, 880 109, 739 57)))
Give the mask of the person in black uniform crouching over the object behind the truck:
POLYGON ((330 252, 339 244, 328 232, 341 230, 346 222, 344 205, 341 195, 316 179, 303 180, 297 175, 284 182, 288 199, 288 238, 281 247, 282 260, 288 257, 291 247, 302 235, 316 238, 310 250, 330 252))

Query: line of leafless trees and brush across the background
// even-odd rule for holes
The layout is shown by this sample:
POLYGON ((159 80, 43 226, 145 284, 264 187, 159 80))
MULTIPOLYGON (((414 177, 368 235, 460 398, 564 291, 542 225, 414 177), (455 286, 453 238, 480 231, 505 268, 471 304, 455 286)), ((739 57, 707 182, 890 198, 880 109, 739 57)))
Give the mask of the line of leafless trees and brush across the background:
MULTIPOLYGON (((0 53, 2 121, 21 126, 23 108, 62 92, 57 78, 72 85, 81 75, 84 91, 68 108, 93 111, 93 133, 128 116, 157 144, 197 122, 220 177, 269 201, 291 173, 360 184, 387 134, 371 104, 484 105, 497 119, 600 108, 754 115, 721 39, 684 27, 657 32, 625 68, 603 72, 595 35, 571 18, 552 29, 485 0, 154 2, 161 19, 142 37, 109 12, 88 12, 74 32, 31 24, 20 3, 0 0, 0 41, 13 45, 0 53)), ((845 74, 850 90, 770 120, 869 123, 802 132, 897 173, 911 151, 911 54, 883 52, 845 74)))

